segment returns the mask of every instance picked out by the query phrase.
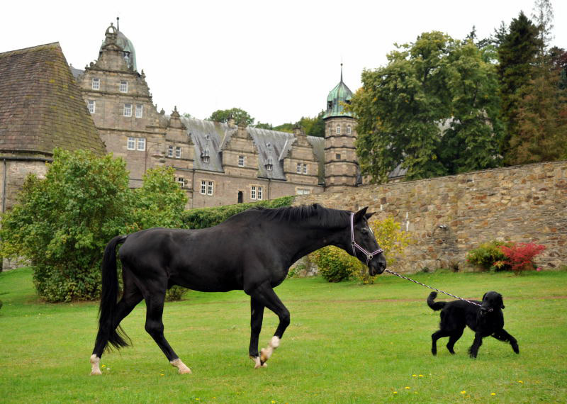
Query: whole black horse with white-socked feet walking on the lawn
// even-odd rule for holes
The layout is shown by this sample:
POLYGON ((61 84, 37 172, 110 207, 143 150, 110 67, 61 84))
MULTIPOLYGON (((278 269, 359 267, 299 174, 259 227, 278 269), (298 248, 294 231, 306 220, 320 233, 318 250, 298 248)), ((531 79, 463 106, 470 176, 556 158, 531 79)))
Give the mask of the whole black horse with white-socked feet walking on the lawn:
POLYGON ((251 306, 249 355, 254 367, 266 366, 289 325, 289 311, 274 288, 286 279, 293 262, 316 249, 335 245, 365 262, 371 275, 386 269, 386 259, 368 225, 372 213, 366 213, 366 209, 352 213, 318 204, 252 208, 212 228, 153 228, 114 237, 102 262, 99 332, 91 355, 91 374, 101 374, 99 363, 108 343, 116 348, 128 345, 120 321, 142 299, 147 306, 145 330, 179 373, 191 373, 164 337, 165 292, 173 285, 203 292, 244 290, 251 306), (116 271, 119 244, 123 244, 118 252, 123 276, 120 301, 116 271), (266 307, 276 313, 279 325, 268 347, 259 353, 258 337, 266 307))

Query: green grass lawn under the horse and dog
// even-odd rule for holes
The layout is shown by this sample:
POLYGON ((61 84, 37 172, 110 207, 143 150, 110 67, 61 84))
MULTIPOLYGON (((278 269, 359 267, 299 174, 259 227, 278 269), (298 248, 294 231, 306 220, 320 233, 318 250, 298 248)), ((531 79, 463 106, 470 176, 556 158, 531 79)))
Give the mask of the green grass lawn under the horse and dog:
MULTIPOLYGON (((466 330, 456 355, 445 338, 432 357, 439 313, 425 303, 430 290, 383 274, 371 286, 315 278, 276 288, 291 325, 266 369, 254 370, 247 357, 242 291, 189 292, 166 303, 165 335, 191 375, 177 374, 147 335, 142 303, 122 323, 133 347, 104 354, 103 376, 89 376, 98 303, 43 303, 30 269, 17 269, 0 274, 0 402, 567 402, 567 272, 412 277, 465 298, 502 293, 520 355, 486 338, 470 359, 466 330)), ((266 310, 262 347, 276 322, 266 310)))

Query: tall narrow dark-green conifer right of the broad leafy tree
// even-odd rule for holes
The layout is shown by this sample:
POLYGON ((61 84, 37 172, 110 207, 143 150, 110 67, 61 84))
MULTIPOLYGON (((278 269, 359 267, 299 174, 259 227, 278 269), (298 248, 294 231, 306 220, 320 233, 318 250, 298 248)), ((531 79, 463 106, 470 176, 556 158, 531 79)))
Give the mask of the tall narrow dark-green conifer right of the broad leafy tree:
POLYGON ((500 145, 505 164, 511 164, 513 151, 510 150, 512 135, 517 133, 519 102, 522 91, 532 79, 537 52, 540 49, 538 29, 523 12, 510 23, 510 30, 498 47, 500 65, 500 96, 502 99, 502 117, 507 125, 505 136, 500 145))

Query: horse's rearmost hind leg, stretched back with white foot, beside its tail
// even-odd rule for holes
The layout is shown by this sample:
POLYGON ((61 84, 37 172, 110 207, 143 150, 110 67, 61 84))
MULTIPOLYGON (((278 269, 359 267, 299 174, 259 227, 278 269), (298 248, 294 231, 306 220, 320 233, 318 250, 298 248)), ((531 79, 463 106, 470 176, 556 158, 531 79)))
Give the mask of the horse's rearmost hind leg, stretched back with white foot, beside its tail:
MULTIPOLYGON (((120 322, 129 315, 132 310, 136 307, 137 303, 142 301, 142 293, 140 289, 135 286, 133 280, 126 276, 124 271, 124 292, 122 298, 116 304, 116 313, 113 318, 112 330, 116 330, 116 327, 120 325, 120 322)), ((101 362, 101 357, 108 345, 108 336, 103 330, 99 329, 96 335, 96 342, 94 344, 93 353, 91 355, 91 375, 101 374, 101 369, 99 367, 101 362)))

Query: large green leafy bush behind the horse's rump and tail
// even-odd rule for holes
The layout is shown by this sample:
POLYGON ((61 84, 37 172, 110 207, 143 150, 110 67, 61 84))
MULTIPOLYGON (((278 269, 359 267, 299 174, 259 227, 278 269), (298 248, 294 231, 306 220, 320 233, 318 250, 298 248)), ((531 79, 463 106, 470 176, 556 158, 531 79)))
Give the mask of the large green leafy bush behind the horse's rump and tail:
POLYGON ((186 197, 172 169, 150 170, 132 191, 122 159, 55 150, 45 179, 28 176, 19 201, 1 220, 2 256, 30 261, 45 300, 72 301, 99 296, 108 240, 181 225, 186 197))

